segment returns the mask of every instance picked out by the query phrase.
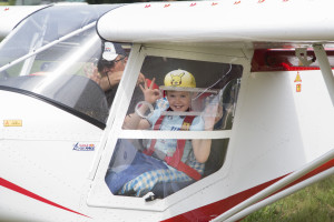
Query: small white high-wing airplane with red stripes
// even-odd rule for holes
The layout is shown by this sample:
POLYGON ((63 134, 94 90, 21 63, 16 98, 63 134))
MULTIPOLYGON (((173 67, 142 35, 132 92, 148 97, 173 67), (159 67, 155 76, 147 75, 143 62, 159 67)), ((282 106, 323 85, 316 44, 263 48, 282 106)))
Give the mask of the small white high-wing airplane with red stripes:
POLYGON ((0 220, 238 221, 332 175, 333 7, 332 0, 1 7, 0 220), (129 52, 112 104, 89 78, 101 54, 116 50, 105 42, 129 52), (160 87, 173 70, 196 79, 191 110, 173 113, 205 118, 216 103, 214 128, 125 129, 129 113, 148 120, 158 107, 138 111, 145 103, 134 80, 143 73, 160 87), (134 157, 120 148, 168 139, 212 141, 200 179, 170 183, 168 193, 166 184, 160 193, 111 192, 108 172, 124 172, 118 161, 134 157))

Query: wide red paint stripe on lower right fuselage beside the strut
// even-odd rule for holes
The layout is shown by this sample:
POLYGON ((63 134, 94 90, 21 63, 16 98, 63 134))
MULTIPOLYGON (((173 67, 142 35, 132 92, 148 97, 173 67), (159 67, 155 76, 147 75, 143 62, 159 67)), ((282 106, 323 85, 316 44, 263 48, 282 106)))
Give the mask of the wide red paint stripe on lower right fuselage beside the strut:
MULTIPOLYGON (((321 165, 320 168, 311 171, 310 173, 307 173, 306 175, 302 176, 301 179, 296 180, 295 182, 288 184, 287 186, 285 186, 284 189, 287 189, 301 181, 304 181, 317 173, 321 173, 330 168, 334 167, 334 159, 332 159, 331 161, 326 162, 325 164, 321 165)), ((288 174, 286 174, 288 175, 288 174)), ((195 209, 193 211, 176 215, 174 218, 167 219, 164 222, 173 222, 173 221, 177 221, 177 222, 188 222, 188 221, 210 221, 214 218, 220 215, 222 213, 228 211, 229 209, 236 206, 237 204, 242 203, 243 201, 249 199, 250 196, 255 195, 256 193, 258 193, 259 191, 266 189, 267 186, 272 185, 273 183, 279 181, 281 179, 285 178, 286 175, 283 175, 281 178, 274 179, 272 181, 268 181, 266 183, 259 184, 257 186, 250 188, 248 190, 245 190, 240 193, 237 193, 235 195, 228 196, 224 200, 217 201, 215 203, 195 209)), ((282 189, 282 190, 284 190, 282 189)), ((281 191, 282 191, 281 190, 281 191)), ((279 191, 278 191, 279 192, 279 191)))

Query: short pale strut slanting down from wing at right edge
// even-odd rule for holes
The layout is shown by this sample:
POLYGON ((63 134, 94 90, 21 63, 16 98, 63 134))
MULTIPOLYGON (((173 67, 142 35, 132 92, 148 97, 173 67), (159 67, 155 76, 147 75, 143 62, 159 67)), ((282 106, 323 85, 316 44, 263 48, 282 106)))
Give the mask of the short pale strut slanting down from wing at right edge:
POLYGON ((320 68, 322 70, 323 78, 327 87, 330 98, 332 100, 332 104, 334 105, 334 75, 330 65, 326 51, 324 50, 324 47, 322 44, 314 44, 313 49, 318 61, 320 68))

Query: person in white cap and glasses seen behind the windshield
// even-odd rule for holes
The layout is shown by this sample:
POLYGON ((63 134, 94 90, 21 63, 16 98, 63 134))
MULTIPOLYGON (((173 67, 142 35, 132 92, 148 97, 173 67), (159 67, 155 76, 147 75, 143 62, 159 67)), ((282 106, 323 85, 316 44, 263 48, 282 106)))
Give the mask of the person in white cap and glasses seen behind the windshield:
MULTIPOLYGON (((96 81, 105 91, 109 107, 114 101, 127 61, 128 56, 120 43, 102 42, 102 53, 97 63, 97 70, 90 79, 96 81)), ((145 77, 140 73, 137 84, 144 81, 145 77)))

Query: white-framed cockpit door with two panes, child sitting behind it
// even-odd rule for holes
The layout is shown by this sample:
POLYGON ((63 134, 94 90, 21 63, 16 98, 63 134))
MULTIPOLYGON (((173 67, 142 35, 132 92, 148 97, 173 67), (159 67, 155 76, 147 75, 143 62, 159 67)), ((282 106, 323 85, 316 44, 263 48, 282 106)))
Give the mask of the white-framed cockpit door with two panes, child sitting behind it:
MULTIPOLYGON (((99 151, 90 172, 92 186, 88 194, 88 205, 161 212, 181 201, 185 195, 194 195, 224 176, 228 169, 228 164, 225 163, 228 161, 225 161, 225 157, 233 134, 233 119, 236 114, 238 90, 244 70, 249 70, 247 61, 245 53, 240 49, 134 44, 105 130, 102 140, 105 149, 99 151), (219 117, 220 121, 216 122, 217 125, 209 131, 204 129, 200 131, 124 129, 122 125, 126 118, 136 112, 136 105, 131 103, 137 103, 140 100, 138 97, 143 95, 141 90, 137 91, 139 74, 143 73, 149 81, 155 79, 157 87, 161 90, 160 95, 163 99, 166 73, 178 69, 189 70, 196 79, 196 88, 191 89, 191 94, 194 94, 191 113, 202 118, 206 105, 214 102, 219 103, 220 109, 225 110, 224 114, 219 117), (222 119, 223 115, 224 119, 222 119), (119 147, 129 143, 136 148, 135 150, 140 150, 140 148, 146 145, 145 141, 151 139, 209 139, 213 140, 213 145, 218 148, 218 151, 213 155, 218 155, 219 160, 214 160, 214 157, 212 157, 210 160, 217 162, 207 164, 208 170, 203 172, 203 179, 198 182, 191 182, 180 190, 176 189, 168 195, 156 199, 154 202, 148 202, 146 195, 136 196, 136 194, 121 195, 118 192, 112 193, 109 190, 110 186, 108 188, 109 184, 106 183, 106 178, 108 171, 110 169, 115 170, 119 164, 111 163, 115 162, 115 159, 128 160, 129 157, 134 157, 127 150, 119 153, 116 151, 120 149, 119 147), (124 143, 124 141, 127 142, 124 143)), ((153 104, 153 109, 157 109, 158 105, 164 107, 167 104, 161 100, 161 104, 156 102, 153 104)), ((187 113, 184 114, 187 115, 187 113)), ((218 118, 218 109, 212 114, 218 118)), ((147 117, 144 114, 143 118, 147 117)))

